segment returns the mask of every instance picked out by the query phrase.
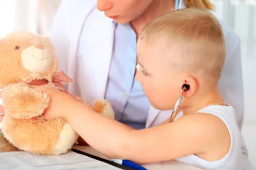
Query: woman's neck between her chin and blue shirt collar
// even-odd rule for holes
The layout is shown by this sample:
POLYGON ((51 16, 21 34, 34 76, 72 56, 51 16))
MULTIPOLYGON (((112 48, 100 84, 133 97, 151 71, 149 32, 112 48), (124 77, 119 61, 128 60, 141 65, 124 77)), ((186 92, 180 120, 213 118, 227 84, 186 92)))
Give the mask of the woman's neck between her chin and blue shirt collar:
POLYGON ((137 37, 140 36, 141 30, 149 21, 153 20, 156 16, 172 11, 174 6, 175 0, 153 0, 147 10, 130 22, 137 37))

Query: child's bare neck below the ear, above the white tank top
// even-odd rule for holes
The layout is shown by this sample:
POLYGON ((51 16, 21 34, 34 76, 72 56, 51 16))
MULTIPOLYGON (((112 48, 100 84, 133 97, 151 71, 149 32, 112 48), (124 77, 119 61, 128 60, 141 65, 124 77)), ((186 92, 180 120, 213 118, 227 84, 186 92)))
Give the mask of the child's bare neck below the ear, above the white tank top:
POLYGON ((219 94, 218 88, 212 90, 205 90, 202 94, 198 94, 191 99, 186 99, 188 103, 187 107, 182 108, 183 115, 194 113, 200 109, 210 106, 220 104, 223 99, 219 94), (189 100, 189 101, 188 101, 189 100))

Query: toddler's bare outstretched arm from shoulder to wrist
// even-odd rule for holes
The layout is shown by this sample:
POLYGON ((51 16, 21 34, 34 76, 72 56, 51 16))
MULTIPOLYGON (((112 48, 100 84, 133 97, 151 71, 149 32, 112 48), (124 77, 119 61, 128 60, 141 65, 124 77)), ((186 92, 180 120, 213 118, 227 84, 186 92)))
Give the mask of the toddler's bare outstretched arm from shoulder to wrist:
POLYGON ((90 146, 110 158, 138 163, 205 154, 220 147, 223 135, 228 133, 218 117, 204 113, 186 115, 154 128, 133 130, 82 105, 76 108, 67 120, 90 146))

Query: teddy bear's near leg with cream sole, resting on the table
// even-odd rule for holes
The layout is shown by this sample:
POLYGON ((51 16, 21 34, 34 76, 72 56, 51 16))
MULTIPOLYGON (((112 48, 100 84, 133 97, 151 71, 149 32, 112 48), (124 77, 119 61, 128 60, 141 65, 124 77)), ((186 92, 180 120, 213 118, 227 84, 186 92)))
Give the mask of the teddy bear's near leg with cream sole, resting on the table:
POLYGON ((39 155, 65 154, 74 145, 78 134, 65 117, 44 120, 37 118, 25 121, 12 120, 5 129, 6 139, 20 150, 39 155), (17 124, 19 123, 19 127, 17 124), (17 128, 15 128, 17 127, 17 128), (14 130, 15 128, 15 130, 14 130))

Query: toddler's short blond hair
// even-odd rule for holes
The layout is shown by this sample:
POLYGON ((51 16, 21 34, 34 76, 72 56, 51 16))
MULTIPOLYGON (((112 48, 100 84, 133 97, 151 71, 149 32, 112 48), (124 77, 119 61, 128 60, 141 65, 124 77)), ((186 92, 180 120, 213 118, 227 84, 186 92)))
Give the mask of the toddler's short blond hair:
POLYGON ((201 74, 213 83, 220 79, 226 60, 221 25, 211 12, 185 8, 158 16, 143 28, 139 39, 150 44, 167 41, 173 67, 191 75, 201 74))

